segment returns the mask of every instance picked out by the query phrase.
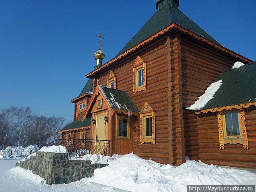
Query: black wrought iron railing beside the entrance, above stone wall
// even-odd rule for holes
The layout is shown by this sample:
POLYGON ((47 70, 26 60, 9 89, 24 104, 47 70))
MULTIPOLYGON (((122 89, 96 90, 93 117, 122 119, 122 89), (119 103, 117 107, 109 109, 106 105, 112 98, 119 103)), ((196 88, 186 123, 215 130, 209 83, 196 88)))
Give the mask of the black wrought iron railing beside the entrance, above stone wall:
POLYGON ((94 139, 57 139, 47 146, 65 146, 72 156, 82 157, 85 154, 110 155, 110 140, 94 139))

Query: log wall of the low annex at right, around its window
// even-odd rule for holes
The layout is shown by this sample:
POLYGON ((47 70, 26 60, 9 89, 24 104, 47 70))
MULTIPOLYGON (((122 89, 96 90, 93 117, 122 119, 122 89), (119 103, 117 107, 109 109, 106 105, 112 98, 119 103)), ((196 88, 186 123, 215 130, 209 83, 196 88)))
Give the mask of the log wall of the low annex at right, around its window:
POLYGON ((256 110, 245 112, 245 118, 248 150, 242 144, 225 144, 225 149, 220 149, 217 115, 198 118, 200 160, 207 164, 256 168, 256 110))

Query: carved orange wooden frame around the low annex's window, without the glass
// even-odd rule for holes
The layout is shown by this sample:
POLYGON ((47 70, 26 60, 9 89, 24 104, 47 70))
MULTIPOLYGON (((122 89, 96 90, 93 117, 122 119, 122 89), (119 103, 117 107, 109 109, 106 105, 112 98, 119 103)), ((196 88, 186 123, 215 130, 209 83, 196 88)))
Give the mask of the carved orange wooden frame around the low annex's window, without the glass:
POLYGON ((227 111, 225 113, 218 114, 218 126, 219 126, 219 142, 220 142, 220 149, 225 148, 225 144, 242 144, 244 150, 248 149, 248 136, 246 130, 246 122, 245 122, 245 112, 244 110, 236 110, 236 111, 227 111), (225 114, 237 112, 238 113, 238 123, 239 123, 239 130, 240 136, 226 136, 226 121, 225 121, 225 114))

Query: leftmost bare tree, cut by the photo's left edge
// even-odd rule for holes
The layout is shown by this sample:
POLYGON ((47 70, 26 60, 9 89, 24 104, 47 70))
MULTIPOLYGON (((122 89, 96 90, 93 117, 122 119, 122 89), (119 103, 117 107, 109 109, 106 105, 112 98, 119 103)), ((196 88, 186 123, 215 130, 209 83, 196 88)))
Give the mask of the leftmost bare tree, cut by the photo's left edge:
POLYGON ((2 121, 2 135, 3 135, 3 148, 5 149, 7 146, 7 143, 10 142, 8 141, 8 138, 11 138, 12 132, 15 127, 15 122, 14 122, 14 111, 17 108, 14 106, 11 106, 10 108, 6 108, 2 111, 1 113, 1 121, 2 121))

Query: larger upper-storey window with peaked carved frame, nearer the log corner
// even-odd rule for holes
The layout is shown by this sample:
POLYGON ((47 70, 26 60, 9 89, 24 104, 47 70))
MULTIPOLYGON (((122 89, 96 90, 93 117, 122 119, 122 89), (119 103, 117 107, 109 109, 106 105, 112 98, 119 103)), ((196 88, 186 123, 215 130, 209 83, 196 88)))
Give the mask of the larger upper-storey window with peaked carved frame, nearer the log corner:
POLYGON ((138 56, 133 65, 133 93, 146 90, 146 63, 138 56))

